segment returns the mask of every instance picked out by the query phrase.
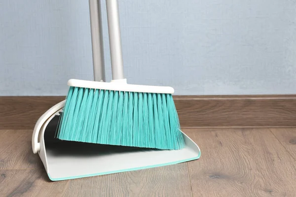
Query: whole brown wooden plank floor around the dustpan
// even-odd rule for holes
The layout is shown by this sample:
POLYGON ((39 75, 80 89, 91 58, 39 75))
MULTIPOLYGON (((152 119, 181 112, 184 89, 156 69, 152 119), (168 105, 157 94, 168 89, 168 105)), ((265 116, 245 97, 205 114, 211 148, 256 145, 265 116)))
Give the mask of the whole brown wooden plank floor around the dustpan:
POLYGON ((197 161, 51 182, 32 130, 0 130, 0 196, 295 197, 296 129, 185 129, 197 161))

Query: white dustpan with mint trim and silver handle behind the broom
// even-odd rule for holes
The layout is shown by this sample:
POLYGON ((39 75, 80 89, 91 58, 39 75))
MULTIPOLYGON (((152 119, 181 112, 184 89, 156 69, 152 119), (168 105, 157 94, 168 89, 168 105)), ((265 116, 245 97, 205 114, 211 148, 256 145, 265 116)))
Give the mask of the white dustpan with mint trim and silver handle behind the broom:
MULTIPOLYGON (((114 2, 117 0, 114 0, 114 2)), ((89 0, 95 81, 105 81, 101 8, 89 0)), ((63 141, 55 137, 66 100, 47 110, 37 121, 32 148, 52 181, 97 176, 178 164, 199 159, 200 149, 185 133, 185 148, 158 150, 63 141)))

